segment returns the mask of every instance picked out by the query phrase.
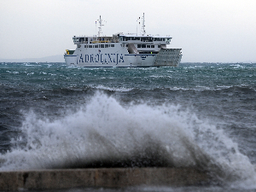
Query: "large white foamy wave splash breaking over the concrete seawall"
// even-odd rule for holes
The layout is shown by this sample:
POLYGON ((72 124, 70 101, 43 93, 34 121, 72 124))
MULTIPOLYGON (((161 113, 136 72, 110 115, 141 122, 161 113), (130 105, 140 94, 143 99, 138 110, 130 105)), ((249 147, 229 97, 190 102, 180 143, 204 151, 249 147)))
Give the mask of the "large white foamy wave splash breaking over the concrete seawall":
POLYGON ((237 144, 189 110, 176 105, 123 107, 101 93, 86 103, 76 113, 63 112, 67 115, 61 119, 27 113, 14 147, 0 155, 0 170, 79 167, 104 161, 143 166, 145 162, 136 160, 154 158, 160 166, 206 169, 227 183, 253 186, 256 181, 253 165, 237 144))

